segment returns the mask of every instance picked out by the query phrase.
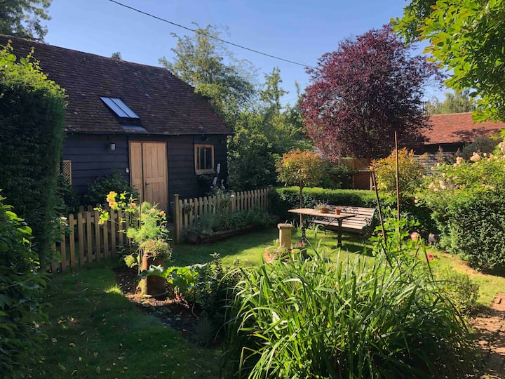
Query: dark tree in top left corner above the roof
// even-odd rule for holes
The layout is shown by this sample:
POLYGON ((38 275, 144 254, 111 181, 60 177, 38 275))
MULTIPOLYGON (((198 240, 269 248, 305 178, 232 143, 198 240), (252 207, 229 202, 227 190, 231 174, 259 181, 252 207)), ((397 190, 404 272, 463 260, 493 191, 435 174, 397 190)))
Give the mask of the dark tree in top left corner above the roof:
POLYGON ((53 0, 1 0, 0 34, 43 40, 47 34, 42 20, 50 20, 47 13, 53 0))

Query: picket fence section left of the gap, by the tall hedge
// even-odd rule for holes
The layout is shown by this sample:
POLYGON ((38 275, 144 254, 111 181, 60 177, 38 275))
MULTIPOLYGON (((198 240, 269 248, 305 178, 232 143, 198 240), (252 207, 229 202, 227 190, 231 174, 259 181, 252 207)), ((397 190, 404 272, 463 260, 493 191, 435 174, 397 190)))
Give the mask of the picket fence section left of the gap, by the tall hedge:
POLYGON ((121 211, 110 211, 110 221, 100 225, 100 213, 92 206, 70 214, 61 227, 60 241, 53 244, 53 260, 50 269, 63 272, 69 268, 83 267, 116 254, 120 246, 128 246, 126 237, 128 215, 121 211))

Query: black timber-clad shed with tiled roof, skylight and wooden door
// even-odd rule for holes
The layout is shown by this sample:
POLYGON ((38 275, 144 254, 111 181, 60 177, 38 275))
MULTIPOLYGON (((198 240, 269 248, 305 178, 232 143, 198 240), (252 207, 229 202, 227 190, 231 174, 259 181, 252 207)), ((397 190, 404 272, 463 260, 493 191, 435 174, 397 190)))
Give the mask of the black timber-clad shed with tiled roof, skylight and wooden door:
POLYGON ((63 162, 81 194, 113 171, 142 200, 170 204, 227 180, 227 126, 208 99, 167 69, 0 34, 19 58, 34 49, 48 78, 65 88, 63 162))

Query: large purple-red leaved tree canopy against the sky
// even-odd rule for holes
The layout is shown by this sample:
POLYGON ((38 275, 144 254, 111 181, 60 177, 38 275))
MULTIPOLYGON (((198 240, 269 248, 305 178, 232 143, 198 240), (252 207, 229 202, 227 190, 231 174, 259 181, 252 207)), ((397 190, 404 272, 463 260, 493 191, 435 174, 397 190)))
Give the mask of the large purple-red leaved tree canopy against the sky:
POLYGON ((301 109, 309 137, 325 155, 385 157, 395 131, 405 147, 423 141, 424 84, 439 73, 412 49, 385 25, 346 39, 308 70, 301 109))

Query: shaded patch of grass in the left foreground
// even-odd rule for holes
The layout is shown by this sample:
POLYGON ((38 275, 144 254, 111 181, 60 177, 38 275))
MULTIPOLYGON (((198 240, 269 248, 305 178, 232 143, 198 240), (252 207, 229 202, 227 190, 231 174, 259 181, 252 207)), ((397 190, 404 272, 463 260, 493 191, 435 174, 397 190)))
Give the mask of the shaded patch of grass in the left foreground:
POLYGON ((50 281, 51 325, 33 378, 217 378, 220 352, 199 349, 138 310, 116 285, 112 267, 50 281))

